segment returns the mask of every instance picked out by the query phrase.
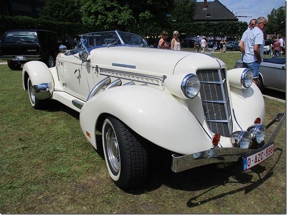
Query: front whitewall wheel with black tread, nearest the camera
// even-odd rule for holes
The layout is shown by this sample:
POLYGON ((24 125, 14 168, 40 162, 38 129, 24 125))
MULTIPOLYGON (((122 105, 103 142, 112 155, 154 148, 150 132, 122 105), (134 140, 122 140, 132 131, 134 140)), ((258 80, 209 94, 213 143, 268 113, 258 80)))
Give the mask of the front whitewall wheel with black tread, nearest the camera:
POLYGON ((140 185, 148 170, 148 153, 140 137, 123 122, 109 116, 103 121, 102 145, 109 174, 121 189, 140 185))

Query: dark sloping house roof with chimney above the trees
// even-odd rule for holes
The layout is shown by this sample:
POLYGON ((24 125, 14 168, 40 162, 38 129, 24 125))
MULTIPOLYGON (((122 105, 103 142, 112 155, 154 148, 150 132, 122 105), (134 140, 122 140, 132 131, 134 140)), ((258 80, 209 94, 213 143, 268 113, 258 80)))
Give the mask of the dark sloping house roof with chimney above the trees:
POLYGON ((218 0, 207 2, 206 9, 203 6, 204 2, 196 3, 194 21, 238 21, 238 18, 218 0))

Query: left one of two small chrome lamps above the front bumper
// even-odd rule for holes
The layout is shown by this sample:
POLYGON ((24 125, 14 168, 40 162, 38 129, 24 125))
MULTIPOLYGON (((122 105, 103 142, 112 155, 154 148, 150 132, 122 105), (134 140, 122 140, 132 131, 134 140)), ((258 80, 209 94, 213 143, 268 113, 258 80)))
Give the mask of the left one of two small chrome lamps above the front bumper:
POLYGON ((250 134, 246 131, 237 131, 231 134, 231 143, 234 147, 248 149, 250 146, 250 134))

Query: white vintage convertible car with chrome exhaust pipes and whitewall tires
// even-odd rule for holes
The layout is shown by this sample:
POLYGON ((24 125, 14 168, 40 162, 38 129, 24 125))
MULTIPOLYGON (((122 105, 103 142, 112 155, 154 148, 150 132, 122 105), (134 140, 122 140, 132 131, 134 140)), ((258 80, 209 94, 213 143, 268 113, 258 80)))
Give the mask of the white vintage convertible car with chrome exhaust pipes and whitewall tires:
POLYGON ((246 68, 227 70, 206 54, 151 49, 139 35, 121 31, 87 33, 79 48, 60 51, 55 67, 24 65, 24 90, 35 109, 54 99, 80 112, 85 137, 103 150, 120 188, 145 180, 147 144, 173 152, 174 172, 222 162, 247 170, 274 152, 285 114, 263 124, 264 100, 246 68))

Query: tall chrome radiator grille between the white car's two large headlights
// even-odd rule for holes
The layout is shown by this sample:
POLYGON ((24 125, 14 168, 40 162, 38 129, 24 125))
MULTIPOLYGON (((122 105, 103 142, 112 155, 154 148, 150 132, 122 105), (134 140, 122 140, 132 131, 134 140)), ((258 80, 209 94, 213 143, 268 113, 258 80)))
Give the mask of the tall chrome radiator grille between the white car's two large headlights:
POLYGON ((198 70, 200 97, 207 125, 212 133, 230 137, 232 120, 224 69, 198 70))

